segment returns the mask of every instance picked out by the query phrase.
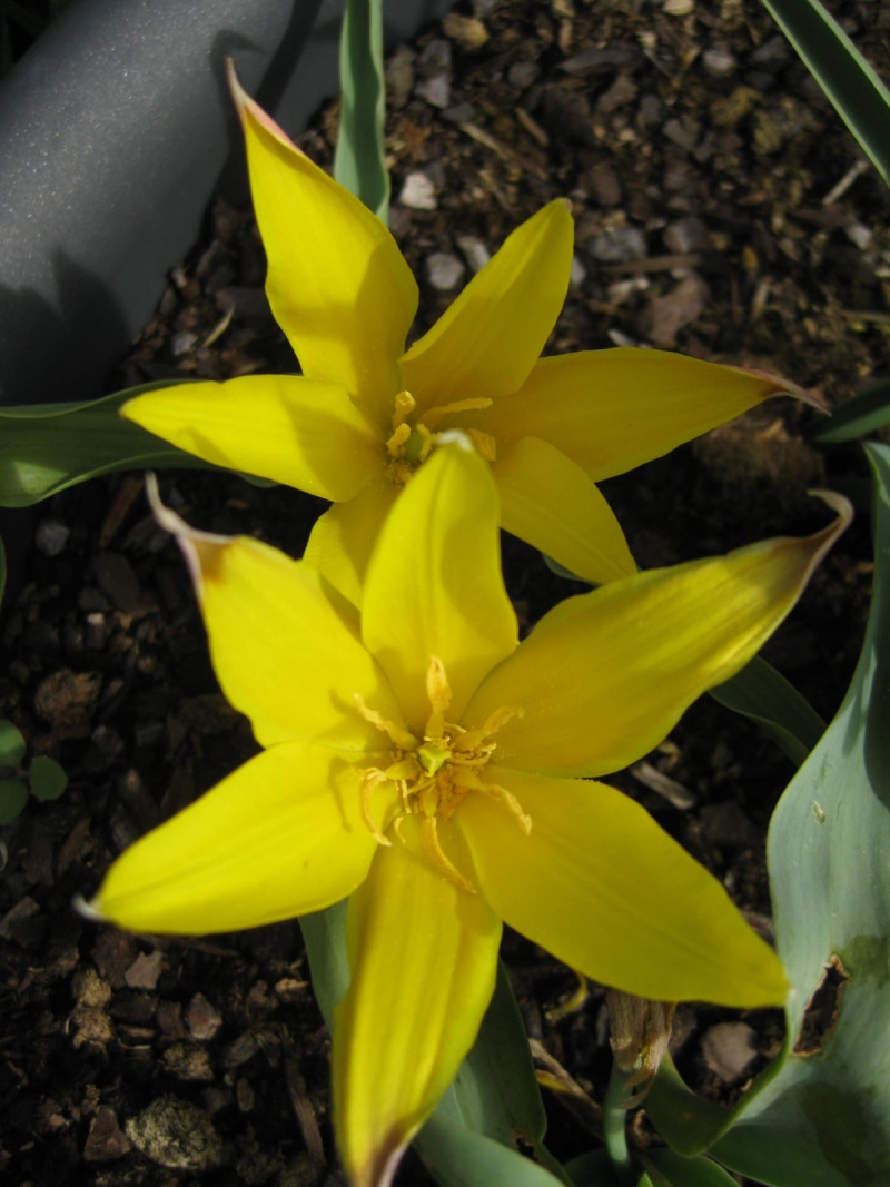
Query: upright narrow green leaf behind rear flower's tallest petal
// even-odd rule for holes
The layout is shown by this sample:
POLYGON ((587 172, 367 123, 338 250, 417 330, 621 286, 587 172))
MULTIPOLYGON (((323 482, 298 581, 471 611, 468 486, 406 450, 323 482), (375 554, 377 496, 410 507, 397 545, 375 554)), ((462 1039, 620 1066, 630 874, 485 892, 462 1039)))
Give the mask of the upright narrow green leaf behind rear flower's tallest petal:
POLYGON ((383 137, 383 0, 347 0, 339 40, 339 85, 333 176, 386 222, 389 173, 383 137))

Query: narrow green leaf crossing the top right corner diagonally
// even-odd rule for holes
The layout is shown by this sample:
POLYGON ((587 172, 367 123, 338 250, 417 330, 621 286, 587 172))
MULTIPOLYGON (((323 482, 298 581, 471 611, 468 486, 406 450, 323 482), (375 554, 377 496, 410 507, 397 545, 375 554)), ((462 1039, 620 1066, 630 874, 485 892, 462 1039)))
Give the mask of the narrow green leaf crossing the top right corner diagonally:
POLYGON ((890 93, 818 0, 763 0, 885 184, 890 185, 890 93))

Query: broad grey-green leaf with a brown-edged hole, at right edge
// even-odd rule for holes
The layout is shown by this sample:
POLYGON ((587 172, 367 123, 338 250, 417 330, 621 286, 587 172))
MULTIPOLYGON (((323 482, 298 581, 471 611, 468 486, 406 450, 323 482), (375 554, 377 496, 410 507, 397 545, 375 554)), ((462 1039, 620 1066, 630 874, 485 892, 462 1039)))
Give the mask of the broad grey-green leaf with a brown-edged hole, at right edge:
POLYGON ((890 447, 866 452, 876 567, 865 643, 768 836, 776 944, 794 986, 790 1049, 713 1148, 778 1187, 890 1182, 890 447))

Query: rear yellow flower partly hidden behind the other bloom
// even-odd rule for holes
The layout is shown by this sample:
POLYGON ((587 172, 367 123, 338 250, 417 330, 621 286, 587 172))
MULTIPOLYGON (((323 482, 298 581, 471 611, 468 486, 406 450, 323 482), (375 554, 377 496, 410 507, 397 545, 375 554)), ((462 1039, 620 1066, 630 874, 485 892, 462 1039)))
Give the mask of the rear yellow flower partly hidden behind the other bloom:
POLYGON ((303 375, 179 385, 123 415, 205 461, 332 500, 306 559, 356 604, 380 525, 443 430, 463 429, 491 463, 507 531, 605 583, 635 565, 597 481, 769 395, 801 394, 659 350, 539 358, 568 288, 561 201, 514 230, 405 351, 418 288, 389 230, 231 82, 266 291, 303 375))

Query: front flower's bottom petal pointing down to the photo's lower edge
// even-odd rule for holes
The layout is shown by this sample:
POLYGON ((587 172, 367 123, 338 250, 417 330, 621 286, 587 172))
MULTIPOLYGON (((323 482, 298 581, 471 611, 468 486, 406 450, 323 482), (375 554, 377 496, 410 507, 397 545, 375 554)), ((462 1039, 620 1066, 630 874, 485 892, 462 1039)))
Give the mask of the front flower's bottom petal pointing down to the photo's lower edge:
POLYGON ((454 1078, 491 998, 501 939, 482 895, 424 858, 417 818, 400 831, 347 916, 352 980, 333 1028, 333 1105, 356 1187, 389 1183, 454 1078))

